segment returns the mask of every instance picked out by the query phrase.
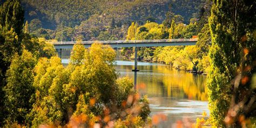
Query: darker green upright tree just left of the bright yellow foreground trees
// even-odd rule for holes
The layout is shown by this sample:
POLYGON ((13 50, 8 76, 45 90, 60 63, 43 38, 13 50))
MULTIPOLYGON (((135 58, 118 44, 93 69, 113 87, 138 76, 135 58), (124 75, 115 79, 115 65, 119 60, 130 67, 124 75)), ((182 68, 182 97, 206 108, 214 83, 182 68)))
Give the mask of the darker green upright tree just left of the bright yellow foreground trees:
POLYGON ((12 58, 11 65, 6 72, 5 123, 27 124, 26 114, 32 109, 32 96, 34 95, 33 67, 36 64, 36 58, 27 50, 24 50, 22 56, 17 54, 12 58))

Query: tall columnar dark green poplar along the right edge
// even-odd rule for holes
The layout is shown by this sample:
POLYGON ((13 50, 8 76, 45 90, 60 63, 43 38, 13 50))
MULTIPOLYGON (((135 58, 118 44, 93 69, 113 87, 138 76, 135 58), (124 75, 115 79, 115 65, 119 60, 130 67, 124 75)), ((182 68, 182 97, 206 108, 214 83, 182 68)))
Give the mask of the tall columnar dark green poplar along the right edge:
POLYGON ((248 65, 251 65, 246 73, 249 81, 255 73, 255 3, 246 0, 213 1, 209 18, 211 70, 207 76, 207 86, 211 118, 217 126, 224 126, 232 94, 237 96, 234 100, 237 104, 245 97, 242 94, 244 90, 252 90, 251 83, 240 82, 242 85, 235 87, 233 79, 239 75, 243 78, 245 74, 242 74, 241 69, 248 65), (235 88, 238 90, 233 92, 235 88))

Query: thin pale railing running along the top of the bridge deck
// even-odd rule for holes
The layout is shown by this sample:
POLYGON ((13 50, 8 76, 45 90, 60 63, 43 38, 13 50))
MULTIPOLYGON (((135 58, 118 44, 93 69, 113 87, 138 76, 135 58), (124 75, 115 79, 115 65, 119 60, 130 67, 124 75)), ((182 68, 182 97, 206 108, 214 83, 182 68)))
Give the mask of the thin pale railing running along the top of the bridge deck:
MULTIPOLYGON (((174 43, 174 42, 197 42, 197 38, 191 39, 144 39, 144 40, 119 40, 119 41, 82 41, 82 44, 92 44, 95 42, 103 44, 114 44, 114 43, 174 43)), ((76 44, 76 41, 73 42, 50 42, 51 44, 76 44)))

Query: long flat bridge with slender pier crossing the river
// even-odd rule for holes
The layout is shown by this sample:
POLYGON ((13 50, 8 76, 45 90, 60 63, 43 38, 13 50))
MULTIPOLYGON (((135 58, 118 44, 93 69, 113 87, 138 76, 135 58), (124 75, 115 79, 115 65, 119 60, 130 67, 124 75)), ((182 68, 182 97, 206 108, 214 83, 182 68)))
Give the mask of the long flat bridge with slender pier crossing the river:
MULTIPOLYGON (((82 41, 79 42, 89 48, 93 43, 102 43, 110 45, 112 48, 129 48, 134 47, 134 89, 136 89, 137 83, 137 51, 138 47, 152 47, 152 46, 186 46, 196 45, 197 38, 192 39, 147 39, 147 40, 127 40, 127 41, 82 41)), ((72 49, 73 45, 77 42, 50 42, 55 46, 58 56, 61 58, 62 49, 72 49)))

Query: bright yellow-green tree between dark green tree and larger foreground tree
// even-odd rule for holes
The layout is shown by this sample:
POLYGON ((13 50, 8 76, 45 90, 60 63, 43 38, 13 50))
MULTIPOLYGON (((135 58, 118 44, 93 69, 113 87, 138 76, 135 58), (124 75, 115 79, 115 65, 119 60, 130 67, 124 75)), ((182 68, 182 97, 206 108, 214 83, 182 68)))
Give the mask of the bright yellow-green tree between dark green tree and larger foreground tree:
POLYGON ((33 104, 28 118, 33 126, 40 124, 61 125, 68 118, 66 107, 63 104, 63 84, 68 83, 67 70, 57 56, 50 59, 41 58, 35 66, 35 82, 33 86, 36 89, 36 101, 33 104))

